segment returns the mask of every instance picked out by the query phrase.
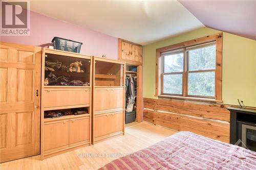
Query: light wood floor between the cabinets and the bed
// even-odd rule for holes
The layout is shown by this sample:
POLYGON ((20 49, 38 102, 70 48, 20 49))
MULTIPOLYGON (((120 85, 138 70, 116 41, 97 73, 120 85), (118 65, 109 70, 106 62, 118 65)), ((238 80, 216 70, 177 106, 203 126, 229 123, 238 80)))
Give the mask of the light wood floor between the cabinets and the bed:
POLYGON ((126 125, 124 136, 105 140, 42 161, 40 156, 33 156, 5 162, 0 164, 0 169, 98 169, 104 164, 122 157, 122 154, 129 154, 146 148, 174 133, 176 132, 147 122, 132 123, 126 125), (118 153, 119 155, 114 155, 118 153), (81 157, 78 157, 79 154, 81 157))

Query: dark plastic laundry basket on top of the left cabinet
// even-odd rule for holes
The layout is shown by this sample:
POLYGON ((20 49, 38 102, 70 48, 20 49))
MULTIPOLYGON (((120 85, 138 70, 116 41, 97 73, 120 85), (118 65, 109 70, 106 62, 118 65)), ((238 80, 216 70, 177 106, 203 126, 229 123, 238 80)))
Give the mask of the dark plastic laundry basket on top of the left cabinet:
POLYGON ((54 37, 52 39, 54 49, 63 50, 67 52, 80 53, 81 42, 72 41, 70 39, 54 37))

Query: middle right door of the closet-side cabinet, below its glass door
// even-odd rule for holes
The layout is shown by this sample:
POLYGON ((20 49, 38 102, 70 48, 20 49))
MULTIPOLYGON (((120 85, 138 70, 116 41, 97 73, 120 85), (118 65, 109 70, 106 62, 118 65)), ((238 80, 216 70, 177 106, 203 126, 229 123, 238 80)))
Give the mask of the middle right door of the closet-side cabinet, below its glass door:
POLYGON ((110 108, 123 108, 123 88, 111 89, 110 108))

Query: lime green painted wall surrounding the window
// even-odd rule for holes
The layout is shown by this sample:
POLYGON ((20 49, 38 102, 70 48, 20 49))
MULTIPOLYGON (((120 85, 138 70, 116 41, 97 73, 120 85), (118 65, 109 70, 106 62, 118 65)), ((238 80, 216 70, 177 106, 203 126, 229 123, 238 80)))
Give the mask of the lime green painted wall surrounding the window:
MULTIPOLYGON (((202 28, 143 46, 143 97, 155 96, 156 49, 221 31, 202 28)), ((223 32, 222 100, 256 107, 256 41, 223 32)))

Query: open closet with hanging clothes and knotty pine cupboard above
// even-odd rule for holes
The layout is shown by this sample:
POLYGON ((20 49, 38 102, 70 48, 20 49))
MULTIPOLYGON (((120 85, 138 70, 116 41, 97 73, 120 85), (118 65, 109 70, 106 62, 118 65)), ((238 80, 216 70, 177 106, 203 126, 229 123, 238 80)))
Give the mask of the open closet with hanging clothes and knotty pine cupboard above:
MULTIPOLYGON (((118 39, 118 60, 125 61, 125 122, 131 123, 136 114, 136 122, 143 120, 143 91, 142 91, 142 61, 143 61, 143 48, 141 45, 118 39), (134 83, 131 83, 130 80, 134 83), (130 86, 134 85, 135 95, 131 96, 130 86), (131 109, 131 107, 133 107, 131 109), (135 113, 136 112, 136 113, 135 113)), ((133 89, 133 88, 132 88, 133 89)), ((132 92, 133 93, 133 92, 132 92)))

